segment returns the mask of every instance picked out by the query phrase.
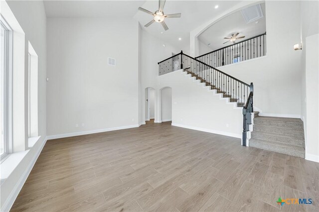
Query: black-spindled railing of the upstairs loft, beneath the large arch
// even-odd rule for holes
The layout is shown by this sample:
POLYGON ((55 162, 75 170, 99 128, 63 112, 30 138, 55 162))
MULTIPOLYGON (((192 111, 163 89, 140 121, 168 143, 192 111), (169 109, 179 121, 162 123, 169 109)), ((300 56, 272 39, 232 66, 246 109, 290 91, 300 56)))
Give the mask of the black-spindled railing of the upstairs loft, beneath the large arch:
POLYGON ((266 32, 229 46, 208 52, 195 59, 212 67, 221 67, 266 55, 266 32))

